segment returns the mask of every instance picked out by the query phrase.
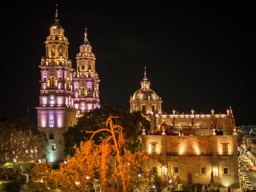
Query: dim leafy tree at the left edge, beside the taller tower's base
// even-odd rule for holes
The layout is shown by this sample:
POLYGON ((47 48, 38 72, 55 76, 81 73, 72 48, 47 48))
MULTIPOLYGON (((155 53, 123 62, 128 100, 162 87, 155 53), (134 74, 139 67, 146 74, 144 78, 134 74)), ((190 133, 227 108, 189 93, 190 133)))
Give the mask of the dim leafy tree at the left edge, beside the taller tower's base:
POLYGON ((27 162, 38 158, 47 138, 26 119, 1 117, 0 130, 0 174, 8 179, 25 170, 27 162))

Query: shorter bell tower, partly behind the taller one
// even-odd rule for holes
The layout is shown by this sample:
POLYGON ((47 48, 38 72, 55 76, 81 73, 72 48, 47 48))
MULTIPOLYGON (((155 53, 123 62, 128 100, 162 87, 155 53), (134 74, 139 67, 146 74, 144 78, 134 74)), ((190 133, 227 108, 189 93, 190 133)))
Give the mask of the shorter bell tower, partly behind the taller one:
POLYGON ((80 45, 79 53, 76 54, 77 72, 73 75, 76 118, 83 116, 85 112, 100 108, 100 80, 95 70, 95 60, 85 29, 84 43, 80 45))

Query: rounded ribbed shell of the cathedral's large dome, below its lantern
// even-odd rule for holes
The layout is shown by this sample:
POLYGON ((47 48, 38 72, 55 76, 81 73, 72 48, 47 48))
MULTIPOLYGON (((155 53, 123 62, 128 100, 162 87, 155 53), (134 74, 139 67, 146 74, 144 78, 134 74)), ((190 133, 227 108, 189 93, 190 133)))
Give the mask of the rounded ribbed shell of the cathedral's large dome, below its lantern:
POLYGON ((133 96, 132 100, 151 100, 151 101, 157 101, 158 96, 156 92, 154 92, 152 89, 139 89, 137 90, 133 96), (148 99, 149 97, 149 99, 148 99))

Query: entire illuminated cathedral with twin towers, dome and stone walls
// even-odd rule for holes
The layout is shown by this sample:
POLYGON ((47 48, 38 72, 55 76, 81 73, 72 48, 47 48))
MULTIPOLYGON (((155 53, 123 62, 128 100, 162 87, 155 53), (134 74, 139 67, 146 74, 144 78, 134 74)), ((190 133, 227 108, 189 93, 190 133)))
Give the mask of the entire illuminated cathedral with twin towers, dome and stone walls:
MULTIPOLYGON (((46 56, 40 62, 41 88, 38 129, 48 138, 48 162, 59 162, 64 157, 63 133, 76 124, 84 112, 100 108, 96 57, 87 37, 76 54, 76 69, 68 59, 68 38, 60 25, 58 10, 46 41, 46 56)), ((225 114, 214 109, 206 114, 171 114, 162 112, 162 98, 144 77, 141 87, 130 96, 130 111, 140 111, 150 121, 150 130, 142 130, 142 150, 161 154, 162 164, 144 165, 165 177, 171 175, 175 184, 209 183, 214 177, 216 186, 239 186, 237 166, 237 133, 232 108, 225 114)), ((143 176, 142 176, 143 177, 143 176)))

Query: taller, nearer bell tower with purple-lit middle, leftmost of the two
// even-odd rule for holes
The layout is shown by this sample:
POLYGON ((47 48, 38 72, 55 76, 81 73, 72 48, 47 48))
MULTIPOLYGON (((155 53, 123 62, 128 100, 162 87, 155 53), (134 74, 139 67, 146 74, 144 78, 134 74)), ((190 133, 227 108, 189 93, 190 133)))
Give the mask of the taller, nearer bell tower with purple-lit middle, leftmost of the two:
MULTIPOLYGON (((58 6, 58 5, 57 5, 58 6)), ((38 129, 48 138, 46 160, 58 162, 64 156, 64 138, 68 126, 76 124, 72 62, 68 59, 68 38, 59 23, 56 8, 55 22, 46 37, 46 57, 40 63, 41 89, 38 129)))

